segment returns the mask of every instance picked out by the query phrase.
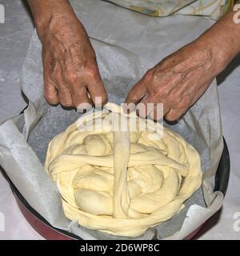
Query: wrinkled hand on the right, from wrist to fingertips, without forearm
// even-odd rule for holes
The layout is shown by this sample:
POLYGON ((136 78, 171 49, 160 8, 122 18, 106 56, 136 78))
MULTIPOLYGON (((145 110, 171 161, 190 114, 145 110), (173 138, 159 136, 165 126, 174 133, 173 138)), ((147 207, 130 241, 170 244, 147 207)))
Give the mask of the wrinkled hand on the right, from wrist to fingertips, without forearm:
MULTIPOLYGON (((177 120, 206 91, 218 70, 210 47, 193 42, 148 70, 130 90, 126 103, 142 102, 146 107, 161 102, 165 118, 177 120)), ((155 105, 154 119, 158 119, 155 105)))

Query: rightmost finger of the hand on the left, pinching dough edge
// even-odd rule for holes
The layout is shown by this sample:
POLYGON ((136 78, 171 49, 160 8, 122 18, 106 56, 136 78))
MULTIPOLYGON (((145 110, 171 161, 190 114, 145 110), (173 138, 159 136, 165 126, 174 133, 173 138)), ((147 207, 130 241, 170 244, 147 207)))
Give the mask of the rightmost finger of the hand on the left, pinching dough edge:
POLYGON ((95 106, 104 106, 107 102, 107 94, 105 86, 100 78, 99 82, 90 82, 87 86, 87 90, 90 93, 91 101, 95 106))

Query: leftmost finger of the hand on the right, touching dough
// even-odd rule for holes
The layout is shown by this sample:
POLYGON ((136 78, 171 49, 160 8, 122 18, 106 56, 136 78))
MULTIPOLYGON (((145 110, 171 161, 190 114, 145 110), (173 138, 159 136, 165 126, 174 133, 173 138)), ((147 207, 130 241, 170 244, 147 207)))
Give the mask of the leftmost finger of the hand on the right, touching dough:
POLYGON ((129 91, 126 97, 126 104, 135 103, 137 104, 142 100, 142 98, 146 97, 147 89, 146 89, 146 78, 145 76, 137 82, 132 89, 129 91))

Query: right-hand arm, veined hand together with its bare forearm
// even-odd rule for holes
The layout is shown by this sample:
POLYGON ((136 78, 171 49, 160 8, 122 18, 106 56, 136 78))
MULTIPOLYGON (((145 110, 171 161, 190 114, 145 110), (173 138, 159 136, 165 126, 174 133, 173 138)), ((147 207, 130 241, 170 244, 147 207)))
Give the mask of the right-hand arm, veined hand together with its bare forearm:
POLYGON ((200 38, 164 58, 130 90, 126 103, 144 108, 139 114, 159 116, 156 103, 163 103, 163 115, 177 120, 198 101, 214 78, 240 51, 240 25, 234 22, 232 10, 200 38), (150 113, 147 103, 154 103, 150 113))

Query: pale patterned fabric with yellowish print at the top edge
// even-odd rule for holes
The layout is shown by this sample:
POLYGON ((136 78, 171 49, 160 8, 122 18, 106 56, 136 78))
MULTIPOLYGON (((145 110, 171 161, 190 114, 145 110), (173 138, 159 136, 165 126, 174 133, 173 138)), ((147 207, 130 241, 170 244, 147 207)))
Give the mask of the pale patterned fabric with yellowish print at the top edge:
POLYGON ((170 14, 202 15, 221 18, 234 5, 234 0, 110 0, 118 6, 142 14, 164 17, 170 14))

